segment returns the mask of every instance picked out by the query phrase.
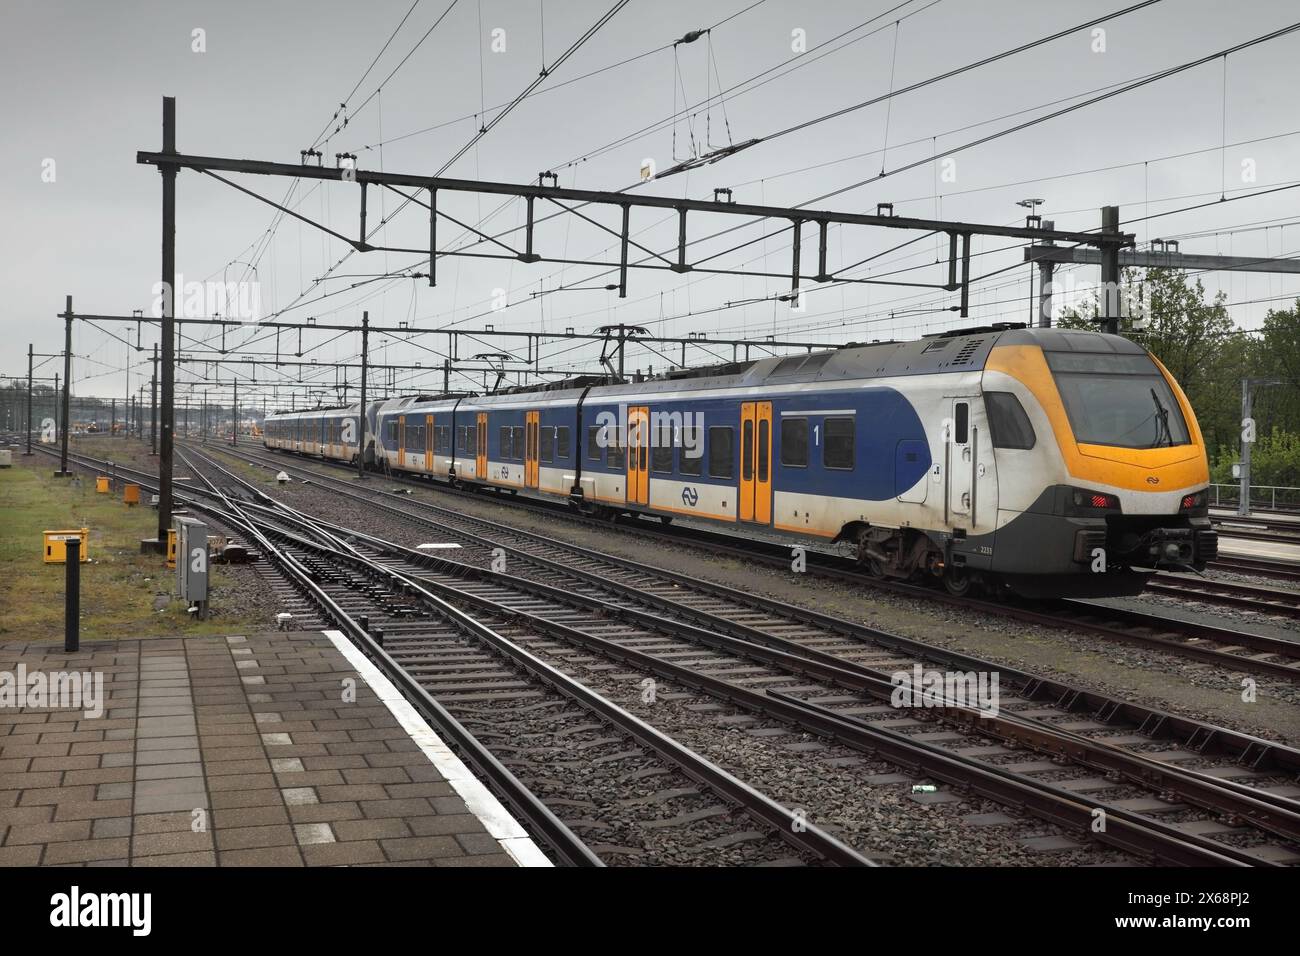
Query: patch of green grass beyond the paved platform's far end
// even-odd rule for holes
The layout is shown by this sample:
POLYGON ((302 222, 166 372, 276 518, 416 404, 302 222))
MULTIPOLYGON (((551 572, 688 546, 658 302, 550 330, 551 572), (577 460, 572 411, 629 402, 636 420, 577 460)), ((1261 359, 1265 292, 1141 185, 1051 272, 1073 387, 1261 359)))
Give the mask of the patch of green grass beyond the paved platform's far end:
MULTIPOLYGON (((66 568, 43 561, 42 532, 90 528, 90 561, 81 566, 83 640, 229 633, 255 622, 237 617, 191 619, 176 600, 174 570, 161 554, 140 554, 140 540, 157 533, 146 503, 122 503, 121 484, 96 494, 95 479, 56 479, 55 459, 38 455, 0 470, 0 639, 52 640, 64 632, 66 568), (166 605, 155 609, 155 598, 166 605)), ((225 583, 212 567, 209 587, 225 583)))

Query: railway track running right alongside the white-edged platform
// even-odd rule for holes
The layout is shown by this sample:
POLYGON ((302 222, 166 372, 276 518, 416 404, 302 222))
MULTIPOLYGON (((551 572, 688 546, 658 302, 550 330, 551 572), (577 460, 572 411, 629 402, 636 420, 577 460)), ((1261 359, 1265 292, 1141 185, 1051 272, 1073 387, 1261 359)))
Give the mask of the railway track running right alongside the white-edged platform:
MULTIPOLYGON (((871 865, 716 763, 511 639, 255 489, 213 480, 179 501, 257 540, 304 597, 395 679, 521 822, 576 865, 871 865), (586 806, 601 806, 590 819, 586 806)), ((104 463, 70 457, 81 467, 104 463)), ((143 472, 118 467, 120 473, 143 472)), ((226 476, 229 477, 229 476, 226 476)), ((517 633, 514 636, 519 636, 517 633)))

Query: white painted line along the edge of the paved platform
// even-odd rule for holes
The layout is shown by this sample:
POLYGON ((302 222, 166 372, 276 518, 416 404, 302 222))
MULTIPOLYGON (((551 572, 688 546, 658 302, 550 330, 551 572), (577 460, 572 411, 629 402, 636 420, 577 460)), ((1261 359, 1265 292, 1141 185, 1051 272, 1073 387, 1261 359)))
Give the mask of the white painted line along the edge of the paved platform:
POLYGON ((452 753, 442 737, 420 717, 420 713, 411 706, 411 702, 402 696, 398 688, 393 685, 393 682, 384 676, 382 671, 342 631, 322 631, 321 633, 330 639, 350 665, 356 667, 356 672, 370 685, 376 696, 384 701, 398 723, 402 724, 402 728, 420 745, 424 756, 447 779, 452 790, 465 801, 469 812, 480 819, 484 829, 491 834, 515 862, 520 866, 555 865, 533 842, 520 822, 510 814, 502 803, 493 796, 491 791, 465 766, 464 761, 452 753))

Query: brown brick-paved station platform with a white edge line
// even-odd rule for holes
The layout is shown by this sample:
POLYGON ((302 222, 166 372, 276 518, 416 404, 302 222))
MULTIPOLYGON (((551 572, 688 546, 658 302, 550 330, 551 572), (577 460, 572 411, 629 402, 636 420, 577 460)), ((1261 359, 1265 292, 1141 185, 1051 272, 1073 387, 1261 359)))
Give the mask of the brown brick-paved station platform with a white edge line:
POLYGON ((337 632, 0 645, 0 866, 398 864, 549 865, 337 632))

